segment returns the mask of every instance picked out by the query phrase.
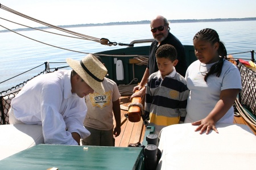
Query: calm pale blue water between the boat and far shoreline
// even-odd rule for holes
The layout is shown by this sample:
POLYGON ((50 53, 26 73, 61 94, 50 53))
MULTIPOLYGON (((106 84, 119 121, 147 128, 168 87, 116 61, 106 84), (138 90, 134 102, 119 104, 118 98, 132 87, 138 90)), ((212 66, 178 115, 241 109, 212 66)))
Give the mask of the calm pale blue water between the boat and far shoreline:
MULTIPOLYGON (((228 53, 248 52, 256 50, 256 21, 243 22, 208 22, 208 23, 171 23, 171 32, 184 45, 193 45, 192 39, 195 33, 203 28, 215 29, 221 41, 224 42, 228 53)), ((100 27, 68 28, 69 30, 89 35, 96 38, 106 38, 112 42, 129 44, 133 40, 152 39, 150 26, 142 25, 113 25, 100 27)), ((47 31, 56 32, 52 29, 47 31)), ((44 33, 41 31, 18 32, 31 39, 85 53, 96 53, 102 50, 126 48, 125 46, 106 46, 98 42, 72 39, 44 33)), ((58 32, 60 33, 60 32, 58 32)), ((32 69, 46 61, 64 62, 65 58, 81 59, 86 54, 69 52, 63 49, 53 48, 13 32, 0 33, 0 82, 32 69)), ((135 46, 150 45, 150 43, 136 44, 135 46)), ((241 58, 250 58, 250 54, 239 54, 241 58)), ((44 66, 42 67, 44 68, 44 66)), ((40 71, 42 71, 42 68, 40 71)), ((38 71, 39 72, 39 71, 38 71)), ((31 73, 31 75, 34 75, 31 73)), ((30 78, 21 76, 0 84, 0 91, 7 90, 10 86, 22 83, 30 78)))

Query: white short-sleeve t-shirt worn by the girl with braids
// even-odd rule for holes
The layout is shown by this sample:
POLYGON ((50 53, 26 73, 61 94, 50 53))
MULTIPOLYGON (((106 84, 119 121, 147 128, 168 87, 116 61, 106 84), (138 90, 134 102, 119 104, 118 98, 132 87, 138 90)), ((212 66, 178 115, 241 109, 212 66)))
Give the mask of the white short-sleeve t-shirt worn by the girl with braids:
MULTIPOLYGON (((213 64, 205 64, 197 60, 187 69, 185 79, 190 92, 185 123, 199 121, 207 117, 220 100, 222 90, 242 89, 240 71, 237 66, 226 60, 222 66, 220 76, 217 77, 216 74, 209 75, 207 82, 205 82, 203 75, 209 71, 213 64)), ((233 123, 233 118, 234 108, 231 107, 218 122, 233 123)))

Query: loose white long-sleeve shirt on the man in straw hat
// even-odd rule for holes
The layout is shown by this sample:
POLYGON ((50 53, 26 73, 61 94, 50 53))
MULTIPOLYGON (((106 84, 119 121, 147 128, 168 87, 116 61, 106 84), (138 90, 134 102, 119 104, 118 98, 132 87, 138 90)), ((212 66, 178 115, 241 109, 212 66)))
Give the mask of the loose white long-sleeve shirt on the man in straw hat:
POLYGON ((77 145, 72 132, 86 138, 85 99, 71 92, 71 70, 59 70, 30 80, 11 100, 14 116, 24 124, 43 126, 45 143, 77 145))

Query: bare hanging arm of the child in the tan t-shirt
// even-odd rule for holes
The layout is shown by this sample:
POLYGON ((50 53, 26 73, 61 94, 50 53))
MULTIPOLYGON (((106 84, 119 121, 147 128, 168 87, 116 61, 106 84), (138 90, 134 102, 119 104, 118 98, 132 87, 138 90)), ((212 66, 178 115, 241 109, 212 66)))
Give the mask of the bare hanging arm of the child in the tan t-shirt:
POLYGON ((115 117, 115 128, 114 128, 114 135, 118 137, 121 133, 121 110, 120 110, 120 103, 119 99, 113 101, 113 113, 115 117))

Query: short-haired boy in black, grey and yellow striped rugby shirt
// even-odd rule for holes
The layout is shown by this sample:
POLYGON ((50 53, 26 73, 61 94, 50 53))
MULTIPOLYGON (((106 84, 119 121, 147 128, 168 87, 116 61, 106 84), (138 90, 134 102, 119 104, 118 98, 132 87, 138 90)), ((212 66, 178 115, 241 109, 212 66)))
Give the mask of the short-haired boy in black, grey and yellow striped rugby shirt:
POLYGON ((175 70, 178 60, 174 46, 162 45, 155 55, 159 70, 148 78, 145 115, 159 135, 164 127, 184 122, 189 90, 184 77, 175 70))

